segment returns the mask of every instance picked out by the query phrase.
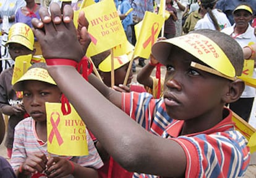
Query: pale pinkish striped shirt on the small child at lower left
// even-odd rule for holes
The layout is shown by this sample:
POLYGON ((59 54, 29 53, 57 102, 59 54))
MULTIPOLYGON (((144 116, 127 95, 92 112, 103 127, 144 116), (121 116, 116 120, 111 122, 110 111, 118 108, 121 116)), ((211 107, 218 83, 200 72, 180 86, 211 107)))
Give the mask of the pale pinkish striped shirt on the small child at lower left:
MULTIPOLYGON (((93 144, 92 138, 88 131, 86 130, 87 135, 87 144, 89 155, 86 156, 61 156, 65 157, 74 163, 80 164, 80 166, 90 167, 90 168, 101 168, 103 162, 101 161, 100 156, 93 144)), ((43 145, 42 142, 38 139, 35 129, 35 120, 31 117, 23 119, 15 127, 14 134, 14 147, 12 150, 11 165, 14 170, 19 169, 19 166, 25 161, 28 155, 34 154, 36 152, 45 153, 46 156, 49 156, 47 152, 47 143, 43 145)), ((51 156, 54 156, 51 154, 51 156)), ((72 175, 67 177, 73 177, 72 175)))

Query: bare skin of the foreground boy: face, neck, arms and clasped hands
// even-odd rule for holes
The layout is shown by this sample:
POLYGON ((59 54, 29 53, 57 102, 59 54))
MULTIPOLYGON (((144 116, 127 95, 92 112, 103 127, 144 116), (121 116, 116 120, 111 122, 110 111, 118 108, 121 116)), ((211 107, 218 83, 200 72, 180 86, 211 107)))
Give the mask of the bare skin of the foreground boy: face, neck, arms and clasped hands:
MULTIPOLYGON (((52 4, 50 9, 51 17, 47 10, 40 10, 43 23, 39 20, 33 20, 33 25, 36 28, 34 33, 38 39, 41 39, 41 46, 47 46, 45 39, 49 44, 46 47, 49 48, 49 51, 43 50, 44 56, 46 59, 63 57, 79 61, 85 51, 79 54, 69 48, 87 49, 87 42, 79 44, 77 36, 74 35, 75 29, 71 23, 71 7, 66 6, 64 8, 63 21, 54 21, 54 19, 61 18, 61 11, 58 6, 52 4), (59 18, 54 18, 55 16, 59 18), (53 24, 56 25, 55 28, 53 24), (43 26, 47 33, 42 30, 43 26), (62 34, 66 34, 68 40, 61 38, 62 34), (70 44, 62 46, 61 52, 51 53, 50 49, 53 47, 53 41, 55 42, 54 46, 63 44, 64 41, 68 41, 70 44)), ((85 19, 82 19, 81 16, 79 23, 83 24, 83 20, 85 19)), ((90 41, 85 27, 86 24, 82 26, 84 28, 81 28, 78 33, 80 38, 90 41)), ((233 82, 192 69, 189 62, 196 59, 186 52, 182 54, 174 52, 172 55, 173 62, 166 66, 168 72, 164 83, 164 103, 168 107, 169 115, 177 119, 184 119, 192 127, 192 129, 188 129, 186 124, 181 134, 203 131, 212 127, 222 118, 224 103, 233 102, 240 97, 244 89, 244 83, 241 80, 233 82), (198 84, 202 86, 202 83, 204 85, 203 88, 198 87, 198 84), (188 91, 190 89, 187 89, 187 86, 189 88, 192 87, 192 90, 188 91), (207 103, 204 106, 206 99, 200 97, 200 102, 203 103, 200 105, 202 108, 198 106, 198 111, 187 113, 182 110, 192 107, 190 105, 192 101, 189 101, 189 99, 194 98, 192 94, 202 94, 202 92, 204 93, 203 89, 208 89, 209 87, 218 89, 218 92, 210 90, 205 93, 207 95, 204 95, 207 99, 209 97, 213 99, 213 103, 207 103), (211 96, 208 96, 208 94, 211 94, 211 96), (173 97, 176 97, 176 99, 172 100, 173 97), (173 108, 178 111, 171 113, 169 110, 173 108), (208 113, 209 111, 210 113, 208 113), (202 127, 195 126, 193 121, 202 127), (195 126, 195 129, 193 129, 193 126, 195 126)), ((74 104, 85 124, 90 127, 90 130, 117 163, 129 171, 145 172, 163 177, 184 177, 187 163, 186 155, 181 146, 174 140, 163 139, 150 134, 130 119, 126 113, 119 110, 118 107, 121 107, 121 93, 109 89, 93 75, 90 75, 89 79, 91 84, 88 83, 74 67, 55 65, 48 67, 48 71, 70 102, 74 104), (67 81, 69 81, 69 85, 66 84, 67 81), (79 86, 77 85, 78 83, 79 86), (103 95, 100 95, 99 91, 103 95), (101 103, 100 112, 95 110, 95 108, 98 108, 99 102, 101 103)))

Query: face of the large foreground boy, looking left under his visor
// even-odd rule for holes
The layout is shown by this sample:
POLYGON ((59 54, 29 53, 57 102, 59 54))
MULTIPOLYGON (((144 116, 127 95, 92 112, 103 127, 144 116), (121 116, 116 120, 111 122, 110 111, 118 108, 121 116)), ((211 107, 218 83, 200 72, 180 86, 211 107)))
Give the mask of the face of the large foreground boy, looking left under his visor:
POLYGON ((211 119, 222 117, 223 96, 228 79, 190 67, 190 62, 200 63, 181 49, 173 50, 166 65, 164 104, 174 119, 211 119))

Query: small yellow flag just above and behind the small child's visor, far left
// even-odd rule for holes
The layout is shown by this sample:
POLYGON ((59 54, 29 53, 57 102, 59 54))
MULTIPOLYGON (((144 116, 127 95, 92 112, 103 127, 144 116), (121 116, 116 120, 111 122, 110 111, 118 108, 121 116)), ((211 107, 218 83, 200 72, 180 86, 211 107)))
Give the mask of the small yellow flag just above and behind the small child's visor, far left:
POLYGON ((31 66, 30 61, 32 54, 20 55, 16 57, 14 64, 14 73, 12 74, 12 85, 16 83, 18 79, 27 71, 28 67, 31 66))

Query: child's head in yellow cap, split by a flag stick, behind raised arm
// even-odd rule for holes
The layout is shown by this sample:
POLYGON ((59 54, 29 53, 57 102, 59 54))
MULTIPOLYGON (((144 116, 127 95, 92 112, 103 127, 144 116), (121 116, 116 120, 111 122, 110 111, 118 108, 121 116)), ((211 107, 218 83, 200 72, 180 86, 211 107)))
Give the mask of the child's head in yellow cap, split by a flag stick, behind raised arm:
MULTIPOLYGON (((104 52, 103 54, 109 54, 109 52, 104 52)), ((106 86, 111 87, 111 55, 105 57, 105 55, 101 55, 101 60, 99 57, 93 57, 93 61, 95 62, 95 67, 98 68, 98 72, 101 76, 101 79, 106 84, 106 86), (103 56, 105 57, 103 59, 103 56), (98 60, 97 60, 98 59, 98 60)), ((124 79, 126 77, 127 70, 129 68, 130 55, 121 55, 119 57, 114 57, 114 85, 118 86, 119 84, 124 83, 124 79)), ((127 79, 127 84, 132 82, 133 73, 130 70, 129 77, 127 79)))

